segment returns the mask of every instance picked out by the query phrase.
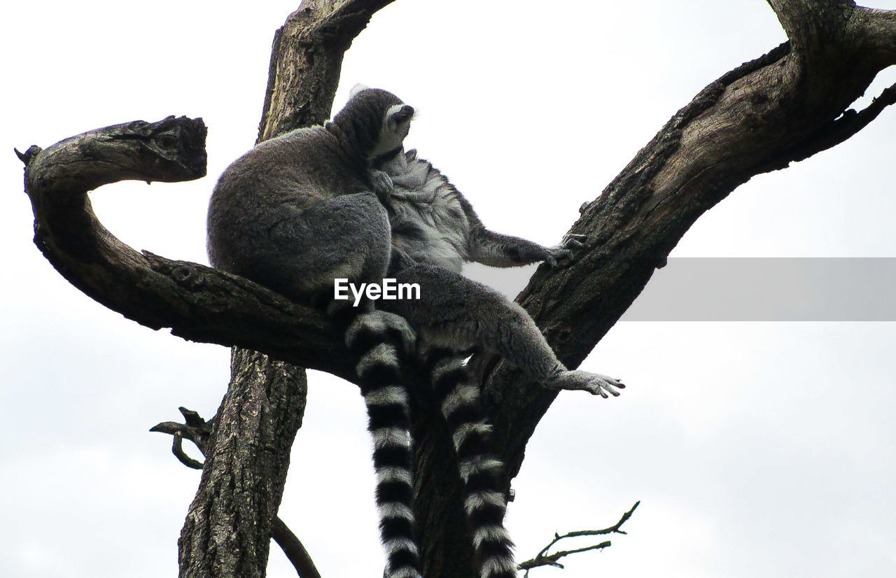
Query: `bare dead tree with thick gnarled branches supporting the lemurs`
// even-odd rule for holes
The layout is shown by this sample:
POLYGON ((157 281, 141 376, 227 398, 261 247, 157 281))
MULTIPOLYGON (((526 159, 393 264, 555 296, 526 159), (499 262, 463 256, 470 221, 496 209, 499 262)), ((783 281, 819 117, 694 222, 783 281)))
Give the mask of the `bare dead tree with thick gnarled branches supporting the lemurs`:
MULTIPOLYGON (((343 53, 390 1, 306 0, 289 16, 274 40, 260 140, 330 116, 343 53)), ((769 4, 788 41, 681 108, 602 194, 595 191, 570 229, 587 235, 582 254, 563 268, 540 268, 521 292, 518 301, 567 366, 582 362, 705 211, 750 177, 849 139, 896 100, 891 87, 863 110, 848 108, 896 64, 896 13, 844 0, 769 4)), ((304 408, 301 367, 352 381, 347 351, 317 311, 224 272, 136 253, 102 227, 87 197, 122 179, 201 177, 204 130, 201 120, 138 121, 20 157, 35 243, 65 279, 137 323, 235 348, 181 535, 180 568, 184 576, 263 576, 304 408)), ((473 362, 512 478, 555 394, 495 356, 473 362)), ((460 482, 441 457, 450 442, 426 407, 415 433, 425 573, 469 576, 460 482)))

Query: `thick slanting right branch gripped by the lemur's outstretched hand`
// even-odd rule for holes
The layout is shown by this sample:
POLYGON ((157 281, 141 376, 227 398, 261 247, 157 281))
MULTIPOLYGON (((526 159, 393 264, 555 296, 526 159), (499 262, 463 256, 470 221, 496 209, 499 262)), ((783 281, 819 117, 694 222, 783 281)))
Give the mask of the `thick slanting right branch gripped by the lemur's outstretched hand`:
MULTIPOLYGON (((837 120, 874 78, 848 71, 880 63, 863 62, 840 42, 851 40, 828 40, 827 50, 842 52, 813 71, 829 88, 826 95, 803 82, 806 72, 791 45, 778 47, 712 82, 590 203, 571 229, 588 235, 587 250, 564 269, 540 267, 519 298, 564 363, 582 362, 703 212, 750 177, 855 134, 892 103, 892 91, 885 91, 862 113, 837 120)), ((488 372, 497 359, 478 363, 488 372)), ((497 434, 507 443, 512 472, 530 428, 555 397, 514 385, 520 377, 502 365, 492 379, 493 400, 501 400, 493 401, 497 434)))

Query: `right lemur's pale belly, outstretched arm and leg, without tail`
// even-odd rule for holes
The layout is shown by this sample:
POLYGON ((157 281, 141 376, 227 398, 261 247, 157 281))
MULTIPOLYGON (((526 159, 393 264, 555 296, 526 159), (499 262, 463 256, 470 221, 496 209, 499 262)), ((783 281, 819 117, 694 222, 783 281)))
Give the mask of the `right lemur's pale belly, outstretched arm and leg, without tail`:
MULTIPOLYGON (((383 302, 432 344, 452 349, 490 349, 532 378, 556 389, 618 395, 618 380, 568 371, 554 355, 530 315, 495 290, 459 273, 462 263, 511 267, 536 261, 556 264, 582 246, 570 237, 544 247, 486 229, 460 191, 417 151, 383 161, 392 178, 389 199, 392 246, 406 260, 396 269, 399 282, 420 284, 420 301, 383 302)), ((581 237, 580 237, 581 238, 581 237)))

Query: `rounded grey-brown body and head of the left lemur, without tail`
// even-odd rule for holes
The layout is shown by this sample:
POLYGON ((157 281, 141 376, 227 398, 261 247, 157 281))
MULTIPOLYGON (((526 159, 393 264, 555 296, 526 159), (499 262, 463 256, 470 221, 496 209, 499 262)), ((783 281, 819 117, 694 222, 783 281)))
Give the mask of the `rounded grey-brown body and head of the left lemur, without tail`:
POLYGON ((397 105, 391 93, 362 91, 332 123, 262 142, 231 164, 211 196, 211 263, 301 300, 332 291, 335 278, 381 282, 391 229, 371 162, 408 133, 409 116, 387 117, 397 105))

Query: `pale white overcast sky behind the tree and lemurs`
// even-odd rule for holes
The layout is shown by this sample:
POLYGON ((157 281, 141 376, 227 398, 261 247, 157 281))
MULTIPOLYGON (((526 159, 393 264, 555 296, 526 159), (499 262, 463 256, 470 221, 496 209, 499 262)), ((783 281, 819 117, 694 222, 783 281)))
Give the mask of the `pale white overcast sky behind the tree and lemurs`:
MULTIPOLYGON (((214 179, 254 142, 273 31, 296 4, 5 9, 0 575, 176 575, 199 472, 147 429, 180 405, 211 417, 228 379, 227 349, 127 321, 53 270, 31 244, 13 146, 202 116, 209 177, 90 198, 129 245, 207 263, 214 179)), ((356 82, 395 92, 419 111, 407 142, 487 226, 550 245, 678 108, 785 38, 761 0, 557 5, 399 0, 349 50, 337 108, 356 82)), ((882 74, 862 102, 894 81, 882 74)), ((896 256, 893 134, 887 110, 836 149, 755 177, 674 255, 896 256)), ((508 513, 519 557, 642 500, 612 548, 531 576, 893 575, 894 345, 892 323, 617 324, 583 367, 629 388, 564 393, 539 425, 508 513)), ((328 375, 309 382, 280 515, 325 577, 379 576, 363 402, 328 375)), ((276 547, 269 575, 295 575, 276 547)))

